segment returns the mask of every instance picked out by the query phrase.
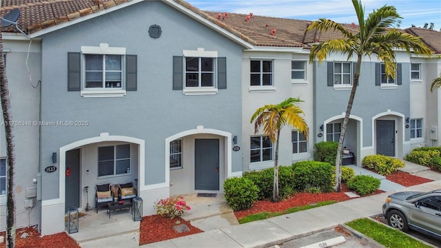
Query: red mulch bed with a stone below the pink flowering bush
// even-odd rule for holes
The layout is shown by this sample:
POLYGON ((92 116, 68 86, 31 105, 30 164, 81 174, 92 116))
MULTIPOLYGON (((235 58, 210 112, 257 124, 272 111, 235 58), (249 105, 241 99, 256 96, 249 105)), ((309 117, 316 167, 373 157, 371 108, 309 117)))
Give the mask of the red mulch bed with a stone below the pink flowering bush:
POLYGON ((139 245, 150 244, 152 242, 158 242, 168 240, 171 238, 179 238, 191 234, 198 234, 203 232, 197 227, 193 227, 188 221, 182 218, 166 218, 161 217, 158 214, 152 216, 144 216, 139 225, 139 245), (176 225, 185 224, 189 227, 190 231, 178 233, 173 229, 176 225))

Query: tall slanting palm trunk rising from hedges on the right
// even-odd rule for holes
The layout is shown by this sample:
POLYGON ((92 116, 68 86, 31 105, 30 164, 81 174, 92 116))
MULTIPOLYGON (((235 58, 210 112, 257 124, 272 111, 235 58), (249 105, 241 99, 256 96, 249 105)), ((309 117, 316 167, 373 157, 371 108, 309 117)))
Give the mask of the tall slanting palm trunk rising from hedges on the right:
POLYGON ((340 133, 340 139, 338 140, 337 156, 336 156, 336 188, 335 188, 336 192, 341 192, 341 189, 342 189, 341 155, 342 155, 343 141, 345 141, 346 127, 347 127, 347 123, 349 122, 349 116, 351 115, 353 99, 356 96, 358 79, 360 78, 361 56, 358 56, 358 61, 357 61, 356 66, 357 66, 356 72, 353 75, 353 84, 352 84, 351 94, 349 95, 349 101, 347 103, 345 118, 343 119, 342 130, 340 133))

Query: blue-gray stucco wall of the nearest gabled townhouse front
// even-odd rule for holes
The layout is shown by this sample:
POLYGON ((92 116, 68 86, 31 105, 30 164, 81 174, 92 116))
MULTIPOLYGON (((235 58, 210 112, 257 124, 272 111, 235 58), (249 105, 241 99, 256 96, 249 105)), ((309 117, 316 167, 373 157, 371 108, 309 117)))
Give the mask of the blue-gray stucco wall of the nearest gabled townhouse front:
MULTIPOLYGON (((82 127, 43 127, 41 163, 63 145, 99 136, 130 136, 145 141, 147 185, 165 182, 165 138, 193 130, 197 125, 241 133, 241 51, 237 43, 190 19, 159 1, 143 1, 101 17, 45 34, 42 45, 43 121, 88 121, 82 127), (161 37, 149 37, 150 25, 160 25, 161 37), (126 48, 136 54, 137 91, 123 97, 83 98, 67 90, 67 54, 81 46, 126 48), (185 96, 172 90, 172 59, 183 50, 204 48, 227 58, 227 89, 215 95, 185 96)), ((43 167, 45 165, 42 165, 43 167)), ((241 156, 233 153, 233 172, 241 170, 241 156)), ((45 174, 45 182, 57 185, 57 175, 45 174)), ((44 186, 43 186, 44 187, 44 186)), ((58 189, 48 189, 44 199, 56 198, 58 189)))

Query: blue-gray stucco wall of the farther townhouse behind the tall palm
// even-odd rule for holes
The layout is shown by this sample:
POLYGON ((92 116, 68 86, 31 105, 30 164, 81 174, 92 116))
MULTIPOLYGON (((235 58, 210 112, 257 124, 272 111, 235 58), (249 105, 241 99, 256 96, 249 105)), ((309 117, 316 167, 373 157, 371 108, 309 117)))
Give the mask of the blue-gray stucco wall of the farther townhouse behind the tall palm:
MULTIPOLYGON (((402 63, 402 85, 393 89, 382 89, 375 85, 375 62, 363 62, 361 66, 360 81, 358 84, 351 115, 358 116, 363 120, 363 146, 373 145, 372 141, 372 117, 387 112, 399 112, 405 116, 410 114, 410 79, 409 63, 402 63)), ((341 115, 346 112, 350 90, 334 90, 327 86, 327 63, 318 65, 315 63, 315 87, 316 99, 314 120, 320 126, 328 118, 341 115)), ((398 128, 398 127, 396 127, 398 128)), ((405 140, 409 141, 409 130, 405 130, 405 140)), ((320 139, 316 138, 317 141, 320 139)), ((321 141, 323 138, 321 138, 321 141)))

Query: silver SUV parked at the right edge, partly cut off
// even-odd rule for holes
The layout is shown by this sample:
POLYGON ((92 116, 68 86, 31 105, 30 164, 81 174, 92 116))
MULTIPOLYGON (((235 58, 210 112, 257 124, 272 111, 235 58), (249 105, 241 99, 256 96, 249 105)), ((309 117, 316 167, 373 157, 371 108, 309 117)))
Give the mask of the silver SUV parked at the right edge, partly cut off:
POLYGON ((383 214, 391 227, 441 239, 441 189, 391 194, 383 205, 383 214))

